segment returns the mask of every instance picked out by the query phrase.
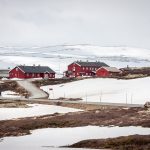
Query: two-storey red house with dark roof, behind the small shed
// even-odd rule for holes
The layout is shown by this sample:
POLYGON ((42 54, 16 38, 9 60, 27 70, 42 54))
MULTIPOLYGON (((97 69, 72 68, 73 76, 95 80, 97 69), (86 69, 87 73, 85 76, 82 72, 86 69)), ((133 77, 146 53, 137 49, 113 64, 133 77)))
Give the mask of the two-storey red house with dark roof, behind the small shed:
POLYGON ((95 76, 96 70, 102 66, 107 66, 107 64, 103 62, 83 62, 83 61, 75 61, 68 65, 68 70, 65 71, 66 77, 78 77, 78 76, 95 76))

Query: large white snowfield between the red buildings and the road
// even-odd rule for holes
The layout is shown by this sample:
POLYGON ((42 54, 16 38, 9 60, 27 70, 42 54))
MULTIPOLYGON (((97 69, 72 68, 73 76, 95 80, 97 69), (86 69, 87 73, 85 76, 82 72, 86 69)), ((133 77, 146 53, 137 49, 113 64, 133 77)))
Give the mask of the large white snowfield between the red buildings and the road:
POLYGON ((150 100, 150 78, 117 80, 108 78, 84 79, 59 85, 41 87, 50 99, 82 98, 88 102, 144 104, 150 100), (53 90, 50 90, 53 89, 53 90))

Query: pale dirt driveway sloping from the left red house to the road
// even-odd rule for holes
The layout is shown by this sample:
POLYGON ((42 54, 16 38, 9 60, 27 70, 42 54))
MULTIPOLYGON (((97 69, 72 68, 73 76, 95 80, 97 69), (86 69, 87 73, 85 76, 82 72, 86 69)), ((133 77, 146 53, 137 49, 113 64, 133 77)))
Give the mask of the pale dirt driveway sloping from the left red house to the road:
POLYGON ((48 96, 28 80, 17 81, 17 83, 31 94, 30 99, 47 98, 48 96))

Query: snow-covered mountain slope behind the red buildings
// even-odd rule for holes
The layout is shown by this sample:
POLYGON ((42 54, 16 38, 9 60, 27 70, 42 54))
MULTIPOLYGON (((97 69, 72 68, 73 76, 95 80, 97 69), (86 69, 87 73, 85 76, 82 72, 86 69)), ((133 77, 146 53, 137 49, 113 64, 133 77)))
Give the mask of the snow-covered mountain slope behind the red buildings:
POLYGON ((149 66, 150 50, 129 47, 58 45, 47 47, 0 47, 0 68, 19 64, 48 65, 63 72, 76 60, 103 61, 111 66, 149 66))

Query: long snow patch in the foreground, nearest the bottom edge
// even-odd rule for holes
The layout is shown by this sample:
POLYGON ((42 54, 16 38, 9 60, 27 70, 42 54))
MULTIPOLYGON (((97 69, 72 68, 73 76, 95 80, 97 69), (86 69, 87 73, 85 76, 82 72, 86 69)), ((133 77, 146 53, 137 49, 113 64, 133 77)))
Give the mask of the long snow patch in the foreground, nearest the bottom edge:
MULTIPOLYGON (((98 127, 85 126, 75 128, 47 128, 33 130, 31 135, 20 137, 6 137, 0 144, 0 149, 36 149, 42 150, 45 146, 66 146, 87 139, 114 138, 128 135, 148 135, 149 128, 142 127, 98 127), (36 143, 36 144, 35 144, 36 143)), ((51 148, 52 146, 52 148, 51 148)))

